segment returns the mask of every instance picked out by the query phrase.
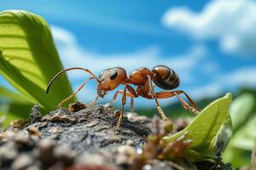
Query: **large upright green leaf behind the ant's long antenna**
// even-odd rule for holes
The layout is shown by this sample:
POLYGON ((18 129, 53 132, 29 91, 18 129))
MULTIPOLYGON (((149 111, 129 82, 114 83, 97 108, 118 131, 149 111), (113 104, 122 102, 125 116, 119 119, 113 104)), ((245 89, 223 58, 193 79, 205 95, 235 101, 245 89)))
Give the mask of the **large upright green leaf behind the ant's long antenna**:
POLYGON ((47 83, 63 69, 47 22, 36 14, 12 10, 0 13, 0 74, 33 103, 52 110, 72 94, 63 76, 49 95, 47 83))

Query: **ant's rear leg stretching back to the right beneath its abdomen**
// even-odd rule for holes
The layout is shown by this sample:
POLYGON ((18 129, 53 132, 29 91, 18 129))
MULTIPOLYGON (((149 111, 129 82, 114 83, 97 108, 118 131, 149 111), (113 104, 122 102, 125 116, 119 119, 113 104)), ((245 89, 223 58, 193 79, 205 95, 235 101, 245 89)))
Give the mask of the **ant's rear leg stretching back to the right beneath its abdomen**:
MULTIPOLYGON (((166 99, 166 98, 172 98, 173 96, 176 96, 177 99, 179 100, 180 104, 183 105, 183 108, 185 110, 189 110, 190 112, 194 113, 197 115, 199 113, 199 110, 197 110, 197 106, 195 105, 194 101, 193 103, 190 103, 192 106, 190 106, 184 99, 182 99, 178 94, 183 94, 182 90, 177 90, 177 91, 171 91, 171 92, 160 92, 156 93, 156 97, 158 99, 166 99), (195 107, 196 106, 196 107, 195 107)), ((190 98, 189 98, 190 99, 190 98)), ((190 101, 189 101, 190 102, 190 101)))

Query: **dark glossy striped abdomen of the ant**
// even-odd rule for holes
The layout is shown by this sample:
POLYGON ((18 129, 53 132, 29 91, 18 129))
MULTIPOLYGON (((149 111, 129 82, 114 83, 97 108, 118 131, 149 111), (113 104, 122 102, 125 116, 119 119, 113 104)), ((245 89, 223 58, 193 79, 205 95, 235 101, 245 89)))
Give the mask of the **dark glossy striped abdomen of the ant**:
POLYGON ((152 69, 154 83, 163 89, 172 90, 179 85, 179 78, 175 71, 165 65, 157 65, 152 69))

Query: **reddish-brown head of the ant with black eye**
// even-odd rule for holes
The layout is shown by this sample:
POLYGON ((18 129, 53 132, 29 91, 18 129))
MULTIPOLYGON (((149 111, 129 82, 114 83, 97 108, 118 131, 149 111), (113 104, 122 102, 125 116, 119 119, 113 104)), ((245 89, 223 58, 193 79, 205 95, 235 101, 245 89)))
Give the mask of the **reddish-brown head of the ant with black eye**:
POLYGON ((124 82, 127 79, 127 76, 125 69, 114 67, 103 71, 98 79, 97 94, 103 97, 107 94, 107 91, 117 88, 119 84, 124 82))

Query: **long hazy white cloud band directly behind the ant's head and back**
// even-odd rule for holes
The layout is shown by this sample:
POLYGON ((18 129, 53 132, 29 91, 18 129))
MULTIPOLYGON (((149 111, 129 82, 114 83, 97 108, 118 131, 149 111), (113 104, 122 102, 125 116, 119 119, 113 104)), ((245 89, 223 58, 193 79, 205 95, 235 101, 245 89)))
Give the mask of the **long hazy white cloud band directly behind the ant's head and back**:
MULTIPOLYGON (((81 66, 90 69, 96 75, 114 66, 124 67, 129 72, 143 66, 153 68, 155 65, 168 65, 177 71, 183 82, 189 82, 190 70, 207 54, 207 49, 201 45, 191 48, 186 54, 176 56, 162 56, 160 48, 154 45, 126 54, 97 54, 79 46, 76 37, 70 31, 57 26, 51 28, 64 66, 81 66)), ((71 75, 79 78, 84 72, 71 72, 71 75)))

